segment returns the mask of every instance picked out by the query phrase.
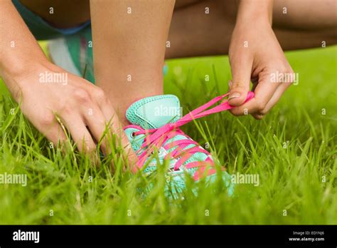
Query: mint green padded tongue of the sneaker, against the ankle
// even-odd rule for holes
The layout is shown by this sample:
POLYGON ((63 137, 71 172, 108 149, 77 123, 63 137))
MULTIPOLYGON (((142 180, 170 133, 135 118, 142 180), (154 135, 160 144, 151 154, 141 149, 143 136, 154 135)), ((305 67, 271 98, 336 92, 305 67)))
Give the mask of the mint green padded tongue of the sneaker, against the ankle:
POLYGON ((176 95, 155 95, 137 100, 127 109, 127 120, 144 129, 161 128, 181 118, 181 108, 176 95))

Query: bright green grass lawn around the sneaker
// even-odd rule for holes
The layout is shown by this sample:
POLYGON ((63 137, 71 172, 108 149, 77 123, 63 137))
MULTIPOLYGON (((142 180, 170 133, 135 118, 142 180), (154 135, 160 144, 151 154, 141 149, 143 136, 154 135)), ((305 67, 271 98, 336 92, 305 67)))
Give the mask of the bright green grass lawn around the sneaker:
MULTIPOLYGON (((239 184, 235 197, 200 186, 198 197, 188 190, 170 202, 164 173, 141 197, 137 187, 149 180, 122 172, 118 158, 112 175, 107 163, 95 169, 87 157, 50 148, 0 83, 0 174, 28 175, 26 187, 0 185, 0 224, 337 224, 336 54, 336 46, 287 53, 299 85, 262 121, 220 113, 182 128, 228 172, 259 175, 258 187, 239 184)), ((184 113, 227 91, 225 56, 167 63, 165 91, 184 113)))

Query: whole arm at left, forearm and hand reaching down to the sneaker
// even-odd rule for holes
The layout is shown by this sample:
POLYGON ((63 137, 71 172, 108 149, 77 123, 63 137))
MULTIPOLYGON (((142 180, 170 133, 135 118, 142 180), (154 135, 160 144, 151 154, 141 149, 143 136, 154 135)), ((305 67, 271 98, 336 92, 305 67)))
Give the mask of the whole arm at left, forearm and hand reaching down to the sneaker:
MULTIPOLYGON (((0 21, 0 75, 31 123, 57 145, 66 140, 55 118, 57 113, 78 150, 90 155, 96 149, 94 139, 100 140, 109 124, 112 133, 121 135, 129 161, 134 162, 136 155, 129 148, 122 124, 102 88, 50 63, 11 1, 0 1, 0 16, 6 20, 0 21), (67 74, 68 82, 65 86, 43 83, 40 73, 67 74)), ((105 141, 101 148, 103 153, 109 153, 105 141)))

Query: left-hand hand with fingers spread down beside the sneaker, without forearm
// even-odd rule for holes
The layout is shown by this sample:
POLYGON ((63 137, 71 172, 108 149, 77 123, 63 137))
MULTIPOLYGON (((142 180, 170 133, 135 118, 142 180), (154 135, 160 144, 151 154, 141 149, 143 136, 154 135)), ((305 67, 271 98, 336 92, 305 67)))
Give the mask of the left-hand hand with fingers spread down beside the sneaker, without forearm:
MULTIPOLYGON (((112 133, 122 135, 122 145, 130 162, 135 161, 137 156, 129 148, 129 140, 101 88, 49 62, 27 67, 24 73, 7 74, 4 80, 15 100, 21 102, 23 114, 48 140, 55 145, 59 140, 66 140, 56 114, 78 150, 91 153, 96 149, 94 139, 100 140, 106 124, 110 123, 112 133)), ((109 153, 107 146, 102 142, 105 154, 109 153)))

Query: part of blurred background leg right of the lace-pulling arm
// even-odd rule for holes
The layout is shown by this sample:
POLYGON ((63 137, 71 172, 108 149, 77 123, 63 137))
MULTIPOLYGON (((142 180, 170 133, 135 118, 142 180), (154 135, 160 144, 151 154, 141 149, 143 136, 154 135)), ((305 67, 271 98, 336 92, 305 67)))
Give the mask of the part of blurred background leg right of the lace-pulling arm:
POLYGON ((274 2, 274 31, 284 50, 337 43, 336 0, 278 0, 274 2), (283 14, 283 8, 287 14, 283 14))

